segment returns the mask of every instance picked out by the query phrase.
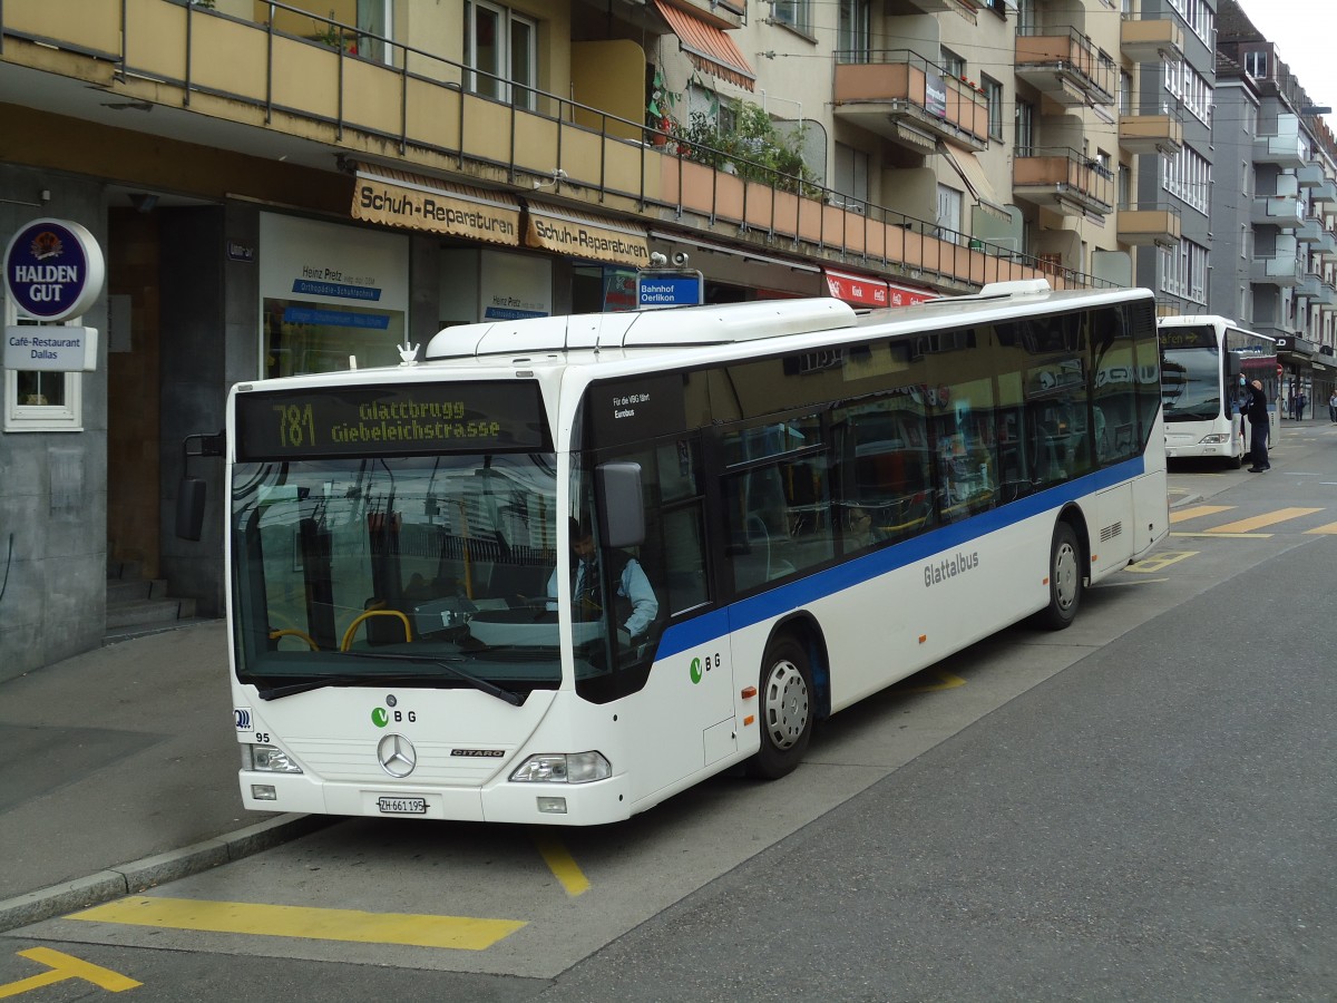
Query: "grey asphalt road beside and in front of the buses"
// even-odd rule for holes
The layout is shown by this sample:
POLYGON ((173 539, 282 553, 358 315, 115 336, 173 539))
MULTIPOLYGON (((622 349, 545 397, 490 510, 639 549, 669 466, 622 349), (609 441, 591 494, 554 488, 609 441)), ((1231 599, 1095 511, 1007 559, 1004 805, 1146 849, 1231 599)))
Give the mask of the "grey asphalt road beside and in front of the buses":
POLYGON ((778 784, 555 844, 345 822, 150 896, 527 921, 485 950, 60 919, 0 940, 0 995, 44 948, 139 1000, 1337 999, 1333 445, 1175 473, 1201 500, 1072 629, 837 715, 778 784))

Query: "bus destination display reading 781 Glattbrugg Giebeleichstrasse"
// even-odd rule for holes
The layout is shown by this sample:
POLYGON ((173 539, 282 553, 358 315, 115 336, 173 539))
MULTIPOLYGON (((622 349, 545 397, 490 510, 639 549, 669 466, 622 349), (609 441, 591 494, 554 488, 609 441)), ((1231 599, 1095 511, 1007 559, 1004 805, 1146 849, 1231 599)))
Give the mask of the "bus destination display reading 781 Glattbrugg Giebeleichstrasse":
POLYGON ((239 393, 237 459, 405 456, 547 448, 535 382, 239 393))

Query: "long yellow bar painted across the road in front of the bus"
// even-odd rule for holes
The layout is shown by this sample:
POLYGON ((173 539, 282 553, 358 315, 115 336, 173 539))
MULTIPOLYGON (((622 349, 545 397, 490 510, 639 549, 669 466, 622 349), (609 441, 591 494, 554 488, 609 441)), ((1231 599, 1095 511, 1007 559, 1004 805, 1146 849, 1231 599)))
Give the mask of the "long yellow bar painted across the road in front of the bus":
POLYGON ((468 916, 425 916, 409 912, 313 909, 241 901, 150 899, 132 895, 66 919, 124 923, 135 927, 199 929, 305 940, 353 940, 364 944, 408 944, 483 951, 520 929, 524 923, 468 916))

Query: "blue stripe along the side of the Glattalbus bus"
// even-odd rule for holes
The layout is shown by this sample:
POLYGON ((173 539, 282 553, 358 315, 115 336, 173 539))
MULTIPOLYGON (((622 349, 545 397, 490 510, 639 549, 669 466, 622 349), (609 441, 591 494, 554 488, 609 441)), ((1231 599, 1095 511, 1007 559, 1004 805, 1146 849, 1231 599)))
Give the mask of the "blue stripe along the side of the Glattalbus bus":
POLYGON ((1044 512, 1056 512, 1068 502, 1132 480, 1144 471, 1146 463, 1138 456, 1115 467, 1107 467, 1066 484, 1020 497, 1016 502, 1008 502, 1005 506, 980 512, 960 523, 949 523, 921 536, 912 536, 890 547, 842 562, 797 582, 789 582, 759 595, 741 599, 731 606, 694 617, 663 633, 656 658, 668 658, 693 647, 709 645, 733 630, 742 630, 774 619, 790 610, 801 608, 844 588, 862 584, 889 571, 928 560, 940 554, 951 555, 955 548, 971 540, 1044 512))

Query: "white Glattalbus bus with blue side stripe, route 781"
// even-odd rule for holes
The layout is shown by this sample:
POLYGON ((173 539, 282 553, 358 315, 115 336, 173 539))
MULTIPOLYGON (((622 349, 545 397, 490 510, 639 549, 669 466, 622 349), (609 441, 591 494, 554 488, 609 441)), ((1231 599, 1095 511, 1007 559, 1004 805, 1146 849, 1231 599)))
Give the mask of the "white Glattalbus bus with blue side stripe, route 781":
POLYGON ((1067 626, 1169 530, 1152 298, 1008 286, 469 325, 233 388, 246 808, 611 822, 1067 626), (592 603, 554 574, 583 519, 592 603))

